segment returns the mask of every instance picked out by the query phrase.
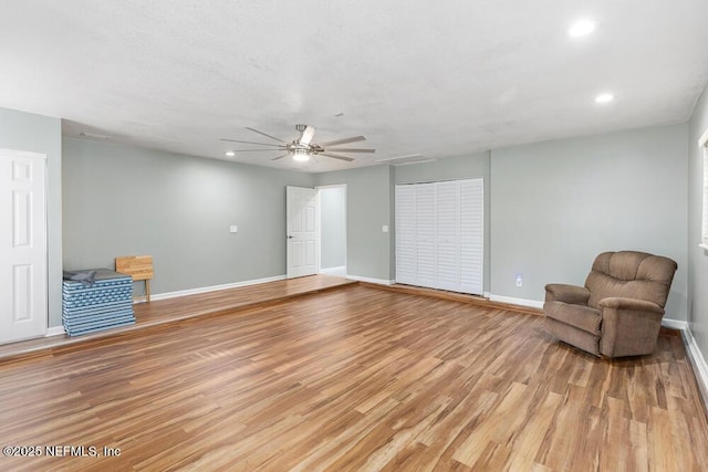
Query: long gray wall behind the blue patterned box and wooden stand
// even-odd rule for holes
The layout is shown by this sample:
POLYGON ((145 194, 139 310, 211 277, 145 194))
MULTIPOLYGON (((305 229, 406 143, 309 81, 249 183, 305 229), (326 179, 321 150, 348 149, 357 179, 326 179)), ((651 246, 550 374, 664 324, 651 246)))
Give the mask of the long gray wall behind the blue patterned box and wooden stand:
POLYGON ((73 138, 63 155, 66 269, 150 254, 156 294, 285 273, 285 186, 313 176, 73 138))

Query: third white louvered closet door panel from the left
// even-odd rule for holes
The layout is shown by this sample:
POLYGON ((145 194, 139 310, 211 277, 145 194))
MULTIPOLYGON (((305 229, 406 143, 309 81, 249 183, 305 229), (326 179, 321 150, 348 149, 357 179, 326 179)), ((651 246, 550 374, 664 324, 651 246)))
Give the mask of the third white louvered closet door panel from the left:
POLYGON ((435 185, 437 218, 437 283, 435 289, 460 292, 460 185, 435 185))

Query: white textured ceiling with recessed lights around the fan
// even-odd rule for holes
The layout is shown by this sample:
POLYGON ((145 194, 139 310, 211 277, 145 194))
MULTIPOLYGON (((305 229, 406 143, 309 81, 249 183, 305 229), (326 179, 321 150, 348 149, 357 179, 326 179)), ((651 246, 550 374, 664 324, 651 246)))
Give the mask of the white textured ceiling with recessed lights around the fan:
POLYGON ((235 147, 221 137, 291 140, 298 123, 377 149, 232 159, 305 171, 442 158, 688 119, 707 19, 707 0, 7 0, 0 106, 219 159, 235 147), (569 38, 581 18, 595 32, 569 38), (615 101, 596 105, 601 92, 615 101))

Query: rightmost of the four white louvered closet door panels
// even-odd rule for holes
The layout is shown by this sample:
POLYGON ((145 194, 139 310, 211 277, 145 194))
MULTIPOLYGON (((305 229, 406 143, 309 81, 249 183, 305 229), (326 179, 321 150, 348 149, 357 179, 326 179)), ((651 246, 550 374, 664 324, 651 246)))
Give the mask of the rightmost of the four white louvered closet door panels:
POLYGON ((460 181, 460 292, 482 294, 485 268, 485 181, 460 181))

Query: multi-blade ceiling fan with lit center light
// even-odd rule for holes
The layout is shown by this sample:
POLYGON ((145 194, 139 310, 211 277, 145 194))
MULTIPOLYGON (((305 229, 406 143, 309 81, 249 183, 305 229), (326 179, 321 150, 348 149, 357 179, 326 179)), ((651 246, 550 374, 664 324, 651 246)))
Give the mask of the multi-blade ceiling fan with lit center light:
POLYGON ((243 144, 253 144, 258 146, 269 146, 269 148, 258 148, 258 149, 232 149, 230 153, 281 150, 281 151, 285 151, 285 154, 283 154, 282 156, 274 157, 271 160, 278 160, 278 159, 282 159, 283 157, 292 156, 294 160, 300 162, 305 162, 310 160, 310 157, 316 156, 316 155, 322 155, 322 156, 331 157, 333 159, 346 160, 347 162, 351 162, 352 160, 354 160, 353 158, 347 156, 342 156, 339 153, 368 153, 368 154, 376 153, 376 149, 362 149, 362 148, 351 148, 351 147, 335 148, 335 146, 341 146, 343 144, 366 140, 364 136, 354 136, 351 138, 334 139, 331 141, 320 143, 320 144, 312 143, 315 128, 314 126, 310 126, 310 125, 295 125, 295 129, 300 133, 300 136, 290 143, 287 143, 267 133, 259 132, 258 129, 249 128, 248 126, 246 127, 246 129, 248 129, 249 132, 258 133, 259 135, 266 136, 267 138, 277 140, 280 144, 256 143, 256 141, 244 141, 240 139, 221 138, 222 141, 229 141, 229 143, 243 143, 243 144))

